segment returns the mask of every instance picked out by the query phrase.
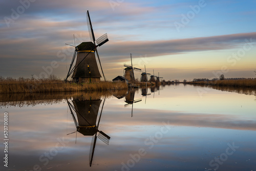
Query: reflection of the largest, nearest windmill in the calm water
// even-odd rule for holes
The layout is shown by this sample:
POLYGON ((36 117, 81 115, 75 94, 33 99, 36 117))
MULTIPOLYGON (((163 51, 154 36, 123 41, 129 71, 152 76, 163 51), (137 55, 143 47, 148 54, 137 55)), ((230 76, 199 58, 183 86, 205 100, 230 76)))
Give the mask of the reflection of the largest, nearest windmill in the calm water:
POLYGON ((109 144, 109 141, 110 141, 110 136, 98 130, 105 99, 101 107, 98 123, 96 124, 101 101, 102 100, 100 99, 100 96, 94 99, 92 97, 74 98, 72 100, 72 103, 74 105, 72 105, 71 102, 67 100, 69 109, 71 111, 71 115, 73 117, 73 120, 76 126, 76 132, 74 133, 79 132, 84 136, 93 136, 92 142, 91 142, 91 148, 90 148, 90 155, 89 155, 90 166, 92 166, 92 160, 93 160, 94 149, 95 149, 97 138, 99 138, 106 144, 109 144), (75 111, 77 119, 73 111, 75 111))

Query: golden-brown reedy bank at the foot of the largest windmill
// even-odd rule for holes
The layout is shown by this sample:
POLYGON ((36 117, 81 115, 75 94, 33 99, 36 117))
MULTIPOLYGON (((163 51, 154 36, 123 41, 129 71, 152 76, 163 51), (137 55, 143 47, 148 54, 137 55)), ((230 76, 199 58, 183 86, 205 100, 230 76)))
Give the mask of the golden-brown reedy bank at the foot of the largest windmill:
POLYGON ((70 83, 53 79, 7 78, 0 80, 0 93, 42 93, 127 89, 123 82, 70 83))

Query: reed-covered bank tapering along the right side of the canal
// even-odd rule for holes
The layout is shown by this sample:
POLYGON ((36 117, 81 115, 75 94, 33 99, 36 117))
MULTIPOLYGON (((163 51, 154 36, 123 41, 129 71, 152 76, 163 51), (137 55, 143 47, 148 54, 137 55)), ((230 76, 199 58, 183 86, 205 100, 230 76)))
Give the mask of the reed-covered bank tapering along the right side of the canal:
POLYGON ((248 87, 256 88, 256 79, 238 79, 238 80, 216 80, 216 81, 191 81, 189 84, 200 84, 210 86, 230 86, 230 87, 248 87))

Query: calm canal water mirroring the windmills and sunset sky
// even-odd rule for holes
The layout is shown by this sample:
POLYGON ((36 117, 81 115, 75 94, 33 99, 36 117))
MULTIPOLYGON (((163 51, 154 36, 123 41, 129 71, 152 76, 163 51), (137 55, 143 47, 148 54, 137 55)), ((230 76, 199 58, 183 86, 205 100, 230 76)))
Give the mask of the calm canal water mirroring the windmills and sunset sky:
POLYGON ((256 170, 251 90, 179 84, 1 98, 9 158, 4 167, 1 143, 0 170, 256 170))

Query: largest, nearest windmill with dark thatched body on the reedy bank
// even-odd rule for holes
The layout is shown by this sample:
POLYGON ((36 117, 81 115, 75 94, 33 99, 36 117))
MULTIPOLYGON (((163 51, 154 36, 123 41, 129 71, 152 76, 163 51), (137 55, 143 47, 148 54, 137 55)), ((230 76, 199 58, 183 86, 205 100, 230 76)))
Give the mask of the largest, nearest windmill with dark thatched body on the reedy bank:
POLYGON ((89 11, 87 11, 87 26, 88 26, 88 31, 90 34, 91 41, 82 42, 80 45, 74 46, 75 51, 74 51, 70 68, 69 68, 67 77, 65 78, 65 81, 67 81, 67 79, 72 73, 73 73, 72 78, 74 82, 100 81, 101 75, 99 73, 97 61, 95 58, 95 52, 99 60, 99 65, 101 68, 102 75, 104 77, 104 80, 106 80, 101 67, 97 47, 100 47, 101 45, 105 44, 105 42, 109 41, 108 35, 104 34, 101 37, 99 37, 96 40, 97 45, 95 44, 95 37, 94 37, 94 32, 93 32, 89 11), (73 66, 75 59, 76 59, 76 63, 75 63, 75 66, 73 66))

